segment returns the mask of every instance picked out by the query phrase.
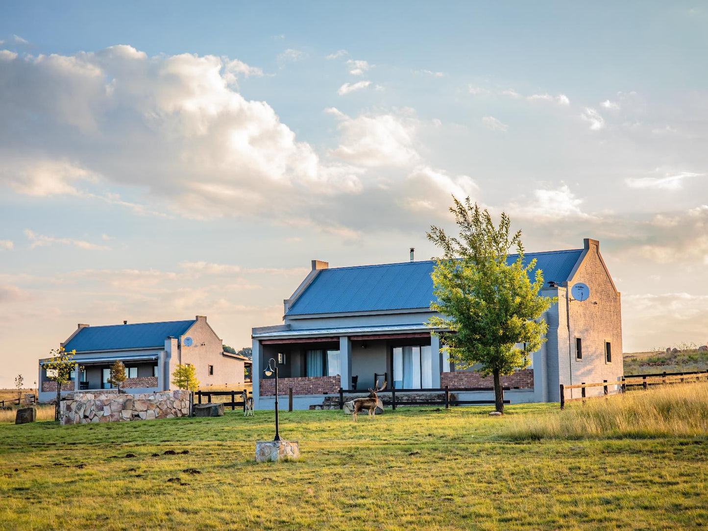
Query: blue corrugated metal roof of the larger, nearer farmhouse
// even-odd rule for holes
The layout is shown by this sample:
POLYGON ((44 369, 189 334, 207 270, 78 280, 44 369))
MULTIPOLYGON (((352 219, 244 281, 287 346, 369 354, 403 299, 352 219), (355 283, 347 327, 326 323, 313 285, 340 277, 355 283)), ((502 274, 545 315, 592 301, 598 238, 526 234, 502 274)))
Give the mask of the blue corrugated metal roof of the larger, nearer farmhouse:
MULTIPOLYGON (((527 253, 544 282, 565 282, 583 249, 527 253)), ((517 255, 509 255, 512 263, 517 255)), ((286 315, 337 314, 428 308, 433 300, 434 261, 358 265, 321 270, 286 315)))

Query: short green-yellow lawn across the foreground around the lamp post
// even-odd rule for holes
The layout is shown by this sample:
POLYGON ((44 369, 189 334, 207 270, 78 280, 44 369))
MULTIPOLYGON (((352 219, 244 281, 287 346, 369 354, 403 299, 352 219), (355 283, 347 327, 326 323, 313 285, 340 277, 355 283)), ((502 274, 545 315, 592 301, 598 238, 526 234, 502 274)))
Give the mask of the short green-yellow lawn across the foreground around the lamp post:
POLYGON ((299 440, 301 459, 258 465, 255 441, 273 438, 270 412, 0 425, 0 529, 708 525, 706 436, 515 442, 502 435, 510 423, 558 406, 489 411, 407 408, 356 424, 340 411, 284 412, 281 434, 299 440))

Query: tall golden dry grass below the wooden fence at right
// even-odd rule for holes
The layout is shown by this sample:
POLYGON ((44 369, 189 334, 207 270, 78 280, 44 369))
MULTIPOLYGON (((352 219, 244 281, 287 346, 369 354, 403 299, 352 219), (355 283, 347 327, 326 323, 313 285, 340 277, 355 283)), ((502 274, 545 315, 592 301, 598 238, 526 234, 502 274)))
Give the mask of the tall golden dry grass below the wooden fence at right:
POLYGON ((708 434, 708 382, 574 402, 564 411, 514 418, 514 439, 653 438, 708 434))

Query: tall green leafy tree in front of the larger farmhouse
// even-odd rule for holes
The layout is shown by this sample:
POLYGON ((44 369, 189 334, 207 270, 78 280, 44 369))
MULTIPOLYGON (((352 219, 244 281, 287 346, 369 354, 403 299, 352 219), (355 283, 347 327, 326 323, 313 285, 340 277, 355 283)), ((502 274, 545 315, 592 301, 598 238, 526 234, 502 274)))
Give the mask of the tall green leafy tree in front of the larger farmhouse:
POLYGON ((541 270, 530 280, 536 261, 524 265, 521 231, 510 235, 508 215, 502 212, 496 227, 489 212, 469 198, 453 200, 450 212, 459 236, 447 236, 434 225, 426 234, 443 253, 433 269, 438 300, 430 304, 440 315, 431 317, 428 326, 457 367, 493 375, 496 411, 503 413, 500 377, 528 367, 529 355, 546 341, 542 315, 556 299, 539 295, 541 270), (507 263, 512 249, 518 258, 507 263))

